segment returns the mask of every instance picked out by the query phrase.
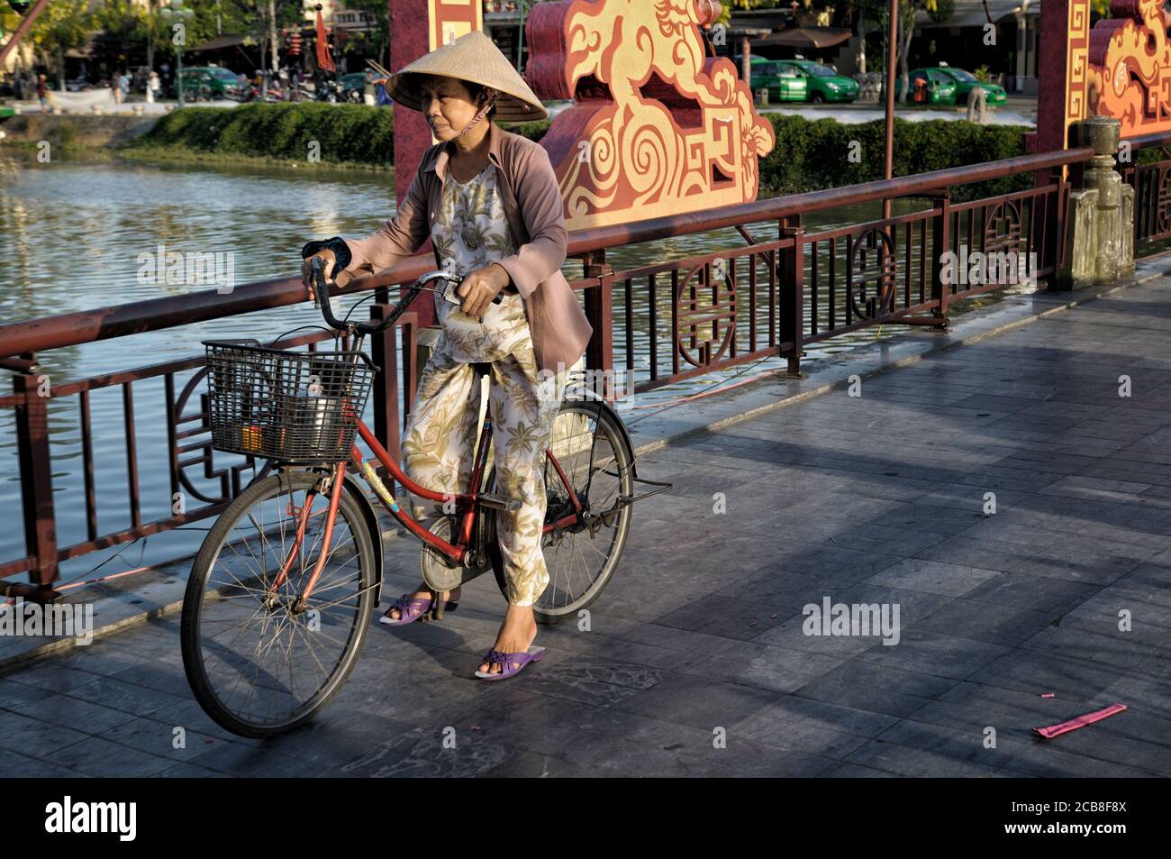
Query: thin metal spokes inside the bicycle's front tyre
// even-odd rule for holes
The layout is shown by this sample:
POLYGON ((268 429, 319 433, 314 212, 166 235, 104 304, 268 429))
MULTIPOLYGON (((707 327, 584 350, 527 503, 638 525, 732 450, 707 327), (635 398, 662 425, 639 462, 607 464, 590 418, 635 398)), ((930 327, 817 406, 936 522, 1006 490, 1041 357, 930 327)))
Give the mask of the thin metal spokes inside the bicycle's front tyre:
MULTIPOLYGON (((369 612, 375 587, 363 566, 369 548, 359 546, 354 513, 344 505, 322 560, 329 497, 307 490, 306 479, 282 476, 242 510, 203 578, 205 683, 219 707, 258 728, 296 720, 336 682, 343 666, 352 664, 347 654, 361 638, 356 622, 369 612), (302 512, 306 526, 300 531, 302 512), (281 586, 271 591, 299 544, 299 531, 297 557, 281 586), (321 574, 302 609, 299 599, 319 561, 321 574)), ((356 525, 365 533, 364 521, 356 525)))

